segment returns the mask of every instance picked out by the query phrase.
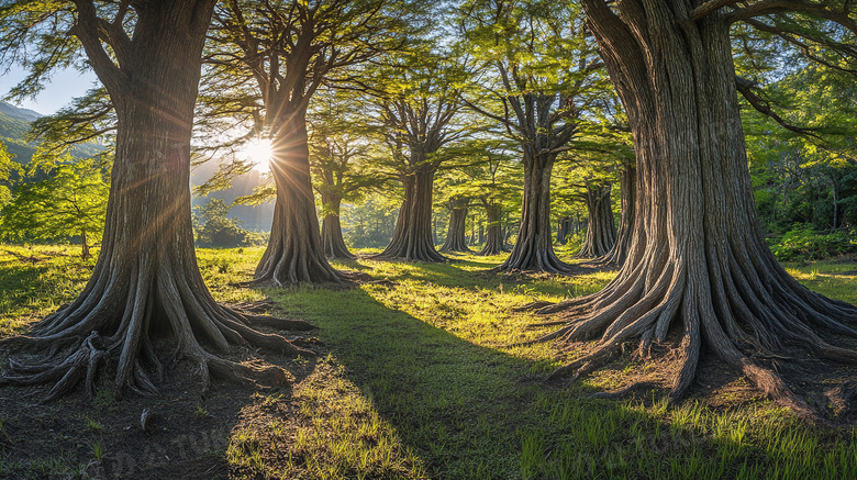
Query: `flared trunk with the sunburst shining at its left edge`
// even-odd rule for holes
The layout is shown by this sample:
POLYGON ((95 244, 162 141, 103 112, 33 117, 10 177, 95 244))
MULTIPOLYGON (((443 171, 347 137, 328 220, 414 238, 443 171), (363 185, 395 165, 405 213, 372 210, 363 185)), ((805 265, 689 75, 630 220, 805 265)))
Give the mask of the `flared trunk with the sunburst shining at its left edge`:
POLYGON ((275 122, 271 174, 277 185, 270 239, 256 267, 256 282, 276 286, 341 282, 345 278, 325 255, 310 177, 305 109, 275 122))

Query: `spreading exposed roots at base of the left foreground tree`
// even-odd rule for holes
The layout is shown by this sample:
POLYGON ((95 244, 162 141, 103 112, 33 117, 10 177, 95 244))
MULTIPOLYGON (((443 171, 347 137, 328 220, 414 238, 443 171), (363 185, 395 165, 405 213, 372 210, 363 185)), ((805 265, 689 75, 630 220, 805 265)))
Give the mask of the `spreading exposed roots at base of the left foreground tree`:
POLYGON ((108 362, 115 366, 114 383, 120 391, 155 394, 155 383, 162 381, 164 367, 155 354, 153 338, 163 335, 175 343, 176 357, 196 364, 203 389, 209 387, 211 376, 275 383, 289 378, 279 367, 255 368, 223 359, 203 348, 203 343, 221 353, 230 351, 233 345, 249 345, 314 357, 312 350, 297 347, 280 335, 248 326, 257 322, 305 331, 313 328, 309 323, 245 315, 221 306, 204 287, 191 288, 185 277, 174 276, 165 265, 158 268, 157 278, 144 268, 129 277, 136 280, 131 282, 108 281, 108 276, 100 276, 97 269, 75 303, 34 325, 30 335, 2 342, 34 348, 40 357, 33 364, 10 358, 9 369, 0 375, 0 386, 53 383, 45 397, 49 401, 82 382, 91 395, 99 366, 108 362))

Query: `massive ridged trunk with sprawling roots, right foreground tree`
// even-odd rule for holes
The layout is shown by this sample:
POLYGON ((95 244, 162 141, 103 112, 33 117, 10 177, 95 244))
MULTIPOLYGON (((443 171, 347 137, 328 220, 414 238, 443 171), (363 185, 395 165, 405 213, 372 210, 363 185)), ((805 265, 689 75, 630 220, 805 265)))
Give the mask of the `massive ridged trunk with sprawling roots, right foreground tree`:
POLYGON ((630 0, 616 15, 603 0, 583 1, 631 121, 639 194, 616 278, 542 310, 568 322, 544 339, 601 337, 596 351, 552 378, 586 375, 628 342, 647 357, 672 328, 682 337, 671 400, 691 384, 704 344, 777 402, 812 415, 765 359, 803 346, 853 365, 857 353, 827 338, 857 336, 842 323, 857 321, 857 309, 800 286, 769 252, 750 190, 728 24, 719 13, 678 20, 701 3, 630 0))

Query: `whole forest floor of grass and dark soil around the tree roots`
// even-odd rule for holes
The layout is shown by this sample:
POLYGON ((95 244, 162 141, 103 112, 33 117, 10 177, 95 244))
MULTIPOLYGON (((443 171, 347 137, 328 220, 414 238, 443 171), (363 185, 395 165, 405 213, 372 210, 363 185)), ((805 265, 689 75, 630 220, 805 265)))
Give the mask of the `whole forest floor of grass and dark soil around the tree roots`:
MULTIPOLYGON (((94 265, 76 253, 0 245, 0 337, 75 298, 94 265)), ((316 358, 233 353, 279 365, 294 383, 219 383, 203 395, 179 361, 153 398, 116 398, 109 375, 93 399, 79 391, 40 404, 42 388, 2 388, 1 479, 857 478, 855 422, 801 423, 716 361, 703 361, 675 406, 660 387, 590 398, 668 373, 630 356, 570 386, 544 384, 579 353, 513 346, 549 327, 532 328, 539 319, 512 309, 596 292, 613 271, 508 277, 486 274, 501 257, 358 260, 335 265, 387 281, 272 290, 235 286, 251 278, 260 248, 198 255, 219 301, 270 299, 269 313, 320 327, 310 334, 316 358)), ((788 268, 812 290, 857 303, 854 258, 788 268)), ((3 365, 8 355, 0 350, 3 365)))

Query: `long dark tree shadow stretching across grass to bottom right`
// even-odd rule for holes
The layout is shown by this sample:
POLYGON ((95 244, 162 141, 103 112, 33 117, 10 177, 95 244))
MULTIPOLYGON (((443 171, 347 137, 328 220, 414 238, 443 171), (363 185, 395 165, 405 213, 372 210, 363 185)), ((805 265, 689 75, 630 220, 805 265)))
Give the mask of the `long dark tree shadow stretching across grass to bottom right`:
MULTIPOLYGON (((421 268, 437 278, 445 266, 421 268)), ((821 469, 836 455, 857 453, 847 440, 830 453, 810 442, 800 447, 812 454, 795 457, 789 451, 803 434, 791 444, 759 447, 749 439, 746 418, 724 420, 699 404, 668 413, 665 402, 645 409, 585 399, 580 387, 545 387, 541 380, 549 364, 471 344, 386 308, 370 292, 268 291, 278 303, 301 304, 307 320, 322 328, 320 337, 344 375, 432 477, 720 479, 758 478, 771 468, 802 478, 857 472, 857 460, 834 464, 834 471, 821 469)))

